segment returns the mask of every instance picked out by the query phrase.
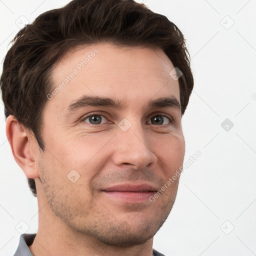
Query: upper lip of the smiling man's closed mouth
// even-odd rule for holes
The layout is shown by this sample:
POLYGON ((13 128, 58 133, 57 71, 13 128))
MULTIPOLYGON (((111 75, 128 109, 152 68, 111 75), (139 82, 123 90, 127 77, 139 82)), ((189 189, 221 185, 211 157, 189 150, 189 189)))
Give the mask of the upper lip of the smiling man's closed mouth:
POLYGON ((141 183, 141 184, 123 183, 123 184, 105 187, 101 190, 103 190, 103 191, 144 192, 144 191, 157 191, 158 189, 155 186, 146 184, 146 183, 141 183))

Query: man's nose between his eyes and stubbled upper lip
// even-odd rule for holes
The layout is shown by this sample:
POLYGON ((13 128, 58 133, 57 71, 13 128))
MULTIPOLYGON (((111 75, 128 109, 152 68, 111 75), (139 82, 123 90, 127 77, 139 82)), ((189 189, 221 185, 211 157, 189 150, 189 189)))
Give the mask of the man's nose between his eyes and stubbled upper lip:
POLYGON ((115 151, 112 157, 117 166, 130 165, 133 169, 140 169, 156 162, 157 157, 141 124, 133 123, 126 131, 117 127, 113 142, 115 151))

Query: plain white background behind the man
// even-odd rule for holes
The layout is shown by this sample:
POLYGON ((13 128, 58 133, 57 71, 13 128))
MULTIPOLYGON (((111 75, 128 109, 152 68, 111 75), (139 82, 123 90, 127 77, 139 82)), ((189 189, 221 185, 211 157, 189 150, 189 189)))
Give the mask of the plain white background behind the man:
MULTIPOLYGON (((67 2, 0 0, 0 61, 19 30, 20 16, 31 22, 67 2)), ((153 247, 169 256, 256 255, 256 0, 144 3, 174 22, 187 40, 194 90, 182 117, 184 162, 197 150, 202 153, 182 173, 153 247), (226 118, 233 123, 222 125, 228 130, 221 126, 226 118)), ((0 101, 1 256, 14 254, 21 220, 29 225, 25 232, 37 231, 36 213, 37 199, 6 140, 0 101)))

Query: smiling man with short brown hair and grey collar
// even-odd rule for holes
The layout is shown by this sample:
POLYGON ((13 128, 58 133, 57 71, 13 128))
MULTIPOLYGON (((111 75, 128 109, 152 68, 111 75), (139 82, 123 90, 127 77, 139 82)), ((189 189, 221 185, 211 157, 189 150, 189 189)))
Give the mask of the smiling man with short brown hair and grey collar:
POLYGON ((193 88, 180 30, 133 0, 73 0, 18 32, 0 85, 38 199, 15 255, 162 255, 193 88))

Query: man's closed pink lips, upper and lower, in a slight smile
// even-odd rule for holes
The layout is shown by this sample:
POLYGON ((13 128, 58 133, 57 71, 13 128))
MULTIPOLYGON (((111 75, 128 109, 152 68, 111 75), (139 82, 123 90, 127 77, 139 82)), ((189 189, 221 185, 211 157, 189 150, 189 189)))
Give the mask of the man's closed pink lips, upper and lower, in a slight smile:
POLYGON ((125 203, 150 202, 149 197, 158 189, 150 184, 118 184, 101 189, 108 198, 124 201, 125 203))

